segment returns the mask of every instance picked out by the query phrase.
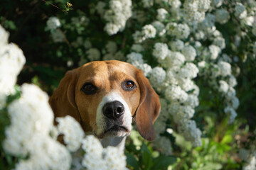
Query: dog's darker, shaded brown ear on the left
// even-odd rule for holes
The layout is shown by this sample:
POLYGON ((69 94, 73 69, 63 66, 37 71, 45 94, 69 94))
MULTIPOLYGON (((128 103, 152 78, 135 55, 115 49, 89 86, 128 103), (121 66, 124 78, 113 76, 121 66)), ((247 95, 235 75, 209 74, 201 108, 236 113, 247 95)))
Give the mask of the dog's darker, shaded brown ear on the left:
POLYGON ((73 69, 65 74, 58 88, 50 96, 50 107, 56 117, 71 115, 80 122, 80 115, 75 103, 75 86, 78 79, 79 69, 73 69))

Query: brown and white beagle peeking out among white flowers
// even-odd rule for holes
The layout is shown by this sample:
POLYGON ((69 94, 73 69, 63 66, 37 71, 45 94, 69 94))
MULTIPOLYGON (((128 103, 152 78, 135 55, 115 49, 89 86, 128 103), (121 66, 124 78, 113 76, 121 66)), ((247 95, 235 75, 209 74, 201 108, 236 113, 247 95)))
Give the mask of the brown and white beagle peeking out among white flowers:
POLYGON ((159 96, 142 70, 126 62, 89 62, 67 72, 49 103, 55 118, 73 116, 103 147, 124 149, 132 120, 144 139, 155 138, 159 96))

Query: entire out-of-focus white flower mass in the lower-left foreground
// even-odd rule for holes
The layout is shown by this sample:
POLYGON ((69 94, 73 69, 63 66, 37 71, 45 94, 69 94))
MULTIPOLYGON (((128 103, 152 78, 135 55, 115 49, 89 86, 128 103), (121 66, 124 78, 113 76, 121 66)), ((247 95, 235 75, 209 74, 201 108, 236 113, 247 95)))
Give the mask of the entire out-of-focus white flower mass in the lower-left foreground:
MULTIPOLYGON (((8 33, 1 26, 0 35, 3 35, 0 40, 3 47, 0 48, 0 70, 6 74, 0 74, 0 103, 4 103, 1 107, 6 107, 2 96, 5 98, 13 93, 25 57, 16 45, 7 43, 8 33)), ((15 169, 70 169, 75 166, 75 162, 72 162, 75 154, 71 157, 70 152, 77 151, 81 144, 86 154, 78 164, 87 169, 126 169, 126 157, 122 150, 116 147, 103 149, 100 141, 92 136, 82 140, 84 132, 74 118, 57 118, 58 128, 55 128, 48 95, 36 85, 23 84, 21 97, 12 101, 7 111, 11 124, 6 127, 6 138, 1 145, 5 154, 17 157, 15 169), (58 135, 64 135, 66 147, 56 140, 58 135), (99 165, 98 168, 96 165, 99 165)))

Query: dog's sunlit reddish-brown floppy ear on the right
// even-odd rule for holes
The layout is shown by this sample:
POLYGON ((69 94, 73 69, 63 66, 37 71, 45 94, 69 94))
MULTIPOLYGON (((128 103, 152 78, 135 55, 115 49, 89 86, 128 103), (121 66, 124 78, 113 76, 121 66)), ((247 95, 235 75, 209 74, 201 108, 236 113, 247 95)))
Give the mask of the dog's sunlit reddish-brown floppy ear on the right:
POLYGON ((154 140, 155 130, 153 123, 160 112, 159 96, 144 77, 141 69, 136 74, 140 90, 139 106, 135 113, 137 129, 146 140, 154 140))

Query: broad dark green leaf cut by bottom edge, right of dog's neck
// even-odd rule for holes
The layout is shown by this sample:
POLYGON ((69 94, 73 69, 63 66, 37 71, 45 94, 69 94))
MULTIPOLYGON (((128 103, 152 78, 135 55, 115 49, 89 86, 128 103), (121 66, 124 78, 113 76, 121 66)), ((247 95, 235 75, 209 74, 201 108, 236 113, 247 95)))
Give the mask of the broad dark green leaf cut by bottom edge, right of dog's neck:
POLYGON ((174 164, 176 161, 176 157, 161 155, 160 157, 154 159, 154 166, 151 167, 151 170, 167 169, 168 166, 174 164))

